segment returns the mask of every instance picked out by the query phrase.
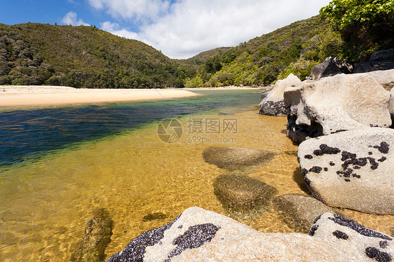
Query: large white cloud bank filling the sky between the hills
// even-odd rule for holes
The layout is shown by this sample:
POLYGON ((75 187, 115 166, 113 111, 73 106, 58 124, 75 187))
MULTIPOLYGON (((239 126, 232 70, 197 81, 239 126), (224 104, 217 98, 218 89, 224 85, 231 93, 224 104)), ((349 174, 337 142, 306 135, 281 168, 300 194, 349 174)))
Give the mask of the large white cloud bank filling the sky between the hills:
POLYGON ((172 58, 187 58, 212 48, 236 46, 291 22, 317 15, 320 8, 330 2, 177 0, 170 4, 167 0, 88 1, 97 9, 109 8, 108 13, 117 19, 149 20, 149 23, 140 25, 139 32, 121 29, 111 22, 102 23, 102 29, 144 41, 172 58))

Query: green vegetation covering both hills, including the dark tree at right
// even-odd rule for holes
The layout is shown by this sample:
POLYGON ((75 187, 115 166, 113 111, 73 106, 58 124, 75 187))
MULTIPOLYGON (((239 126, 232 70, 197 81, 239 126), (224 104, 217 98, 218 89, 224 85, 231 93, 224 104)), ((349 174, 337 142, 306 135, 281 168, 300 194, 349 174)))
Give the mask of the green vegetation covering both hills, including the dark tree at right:
POLYGON ((320 16, 233 48, 171 60, 140 41, 95 27, 0 24, 0 85, 166 88, 268 85, 336 56, 368 60, 394 46, 394 0, 333 0, 320 16))

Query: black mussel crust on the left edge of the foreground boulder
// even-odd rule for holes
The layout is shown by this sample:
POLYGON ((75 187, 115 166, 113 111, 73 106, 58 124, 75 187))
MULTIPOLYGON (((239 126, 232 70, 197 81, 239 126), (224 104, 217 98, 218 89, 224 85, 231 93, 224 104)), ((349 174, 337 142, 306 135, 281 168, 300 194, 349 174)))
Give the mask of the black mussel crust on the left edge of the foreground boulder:
POLYGON ((107 262, 143 261, 145 249, 160 242, 160 240, 164 237, 164 231, 171 228, 172 224, 175 223, 175 221, 177 221, 181 215, 182 214, 179 214, 179 216, 177 216, 174 221, 167 223, 160 228, 154 228, 142 233, 138 237, 135 237, 134 240, 127 244, 125 249, 108 258, 107 262))

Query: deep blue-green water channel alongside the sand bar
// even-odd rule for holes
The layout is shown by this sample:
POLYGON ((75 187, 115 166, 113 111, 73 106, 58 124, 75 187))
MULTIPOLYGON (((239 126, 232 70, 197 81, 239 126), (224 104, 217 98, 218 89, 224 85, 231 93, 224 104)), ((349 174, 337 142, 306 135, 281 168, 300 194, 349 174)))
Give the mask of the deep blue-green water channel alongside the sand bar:
POLYGON ((0 113, 0 167, 133 130, 163 118, 259 103, 259 90, 200 90, 204 97, 24 109, 0 113))

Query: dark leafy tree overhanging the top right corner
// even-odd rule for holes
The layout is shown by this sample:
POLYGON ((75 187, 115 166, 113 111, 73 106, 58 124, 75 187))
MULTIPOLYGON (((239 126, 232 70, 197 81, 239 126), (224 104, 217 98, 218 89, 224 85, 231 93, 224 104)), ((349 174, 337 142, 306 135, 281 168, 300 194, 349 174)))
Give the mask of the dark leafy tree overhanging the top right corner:
POLYGON ((348 62, 394 46, 394 0, 333 0, 320 15, 341 33, 348 62))

